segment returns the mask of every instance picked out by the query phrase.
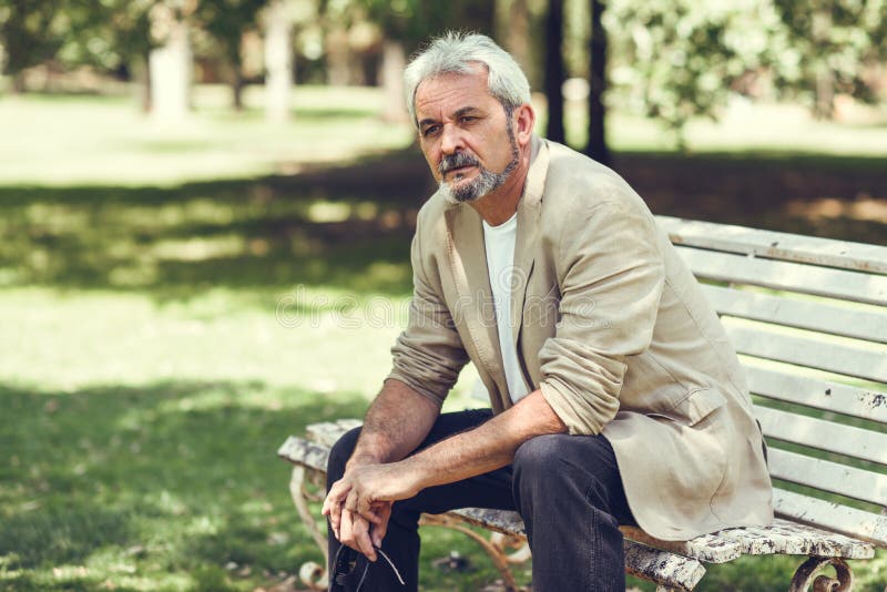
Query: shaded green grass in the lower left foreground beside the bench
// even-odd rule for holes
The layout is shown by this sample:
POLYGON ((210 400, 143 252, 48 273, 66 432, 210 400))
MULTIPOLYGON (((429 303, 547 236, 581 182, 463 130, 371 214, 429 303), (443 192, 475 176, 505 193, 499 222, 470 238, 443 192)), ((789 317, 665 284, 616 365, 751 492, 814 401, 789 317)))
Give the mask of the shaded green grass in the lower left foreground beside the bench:
POLYGON ((136 574, 223 590, 292 573, 317 550, 274 452, 309 422, 366 407, 255 381, 2 385, 0 400, 0 589, 13 590, 134 589, 136 574))

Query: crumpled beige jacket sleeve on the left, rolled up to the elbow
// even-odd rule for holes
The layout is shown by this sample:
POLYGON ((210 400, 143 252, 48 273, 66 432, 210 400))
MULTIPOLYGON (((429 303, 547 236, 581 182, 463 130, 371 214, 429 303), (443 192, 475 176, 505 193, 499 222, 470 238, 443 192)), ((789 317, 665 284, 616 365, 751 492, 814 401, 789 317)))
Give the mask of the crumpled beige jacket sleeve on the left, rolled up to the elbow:
POLYGON ((468 363, 468 354, 462 347, 449 308, 435 288, 440 286, 437 272, 426 268, 420 228, 421 223, 412 238, 410 254, 412 300, 409 321, 391 348, 394 367, 386 380, 400 380, 441 406, 462 367, 468 363))

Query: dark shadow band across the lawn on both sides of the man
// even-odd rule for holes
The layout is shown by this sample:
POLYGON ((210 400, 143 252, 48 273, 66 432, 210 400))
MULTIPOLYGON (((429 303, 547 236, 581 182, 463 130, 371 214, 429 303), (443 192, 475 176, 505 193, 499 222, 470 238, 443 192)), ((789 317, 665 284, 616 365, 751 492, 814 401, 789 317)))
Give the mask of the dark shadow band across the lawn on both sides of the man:
MULTIPOLYGON (((621 153, 656 214, 887 243, 883 160, 621 153)), ((410 289, 409 239, 432 184, 415 146, 343 166, 176 187, 0 187, 0 287, 410 289)))

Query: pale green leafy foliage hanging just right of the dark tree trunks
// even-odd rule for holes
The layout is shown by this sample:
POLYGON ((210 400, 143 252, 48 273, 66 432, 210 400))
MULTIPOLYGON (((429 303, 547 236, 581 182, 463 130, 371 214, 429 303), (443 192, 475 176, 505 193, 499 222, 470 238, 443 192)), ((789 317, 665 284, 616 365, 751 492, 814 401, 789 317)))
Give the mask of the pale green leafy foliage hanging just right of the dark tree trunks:
POLYGON ((781 23, 763 0, 613 0, 604 24, 621 57, 611 80, 679 134, 694 115, 715 115, 743 75, 781 53, 781 23))

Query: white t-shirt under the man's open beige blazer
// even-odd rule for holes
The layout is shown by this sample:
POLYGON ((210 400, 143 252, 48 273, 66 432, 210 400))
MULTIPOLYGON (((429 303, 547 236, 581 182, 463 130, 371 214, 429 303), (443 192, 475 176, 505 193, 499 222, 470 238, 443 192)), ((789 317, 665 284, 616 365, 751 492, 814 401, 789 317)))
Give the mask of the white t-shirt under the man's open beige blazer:
POLYGON ((499 226, 483 221, 483 246, 490 274, 496 325, 499 329, 499 349, 508 381, 508 394, 518 402, 530 392, 518 364, 518 350, 511 335, 511 280, 514 272, 514 243, 518 236, 518 213, 499 226))

